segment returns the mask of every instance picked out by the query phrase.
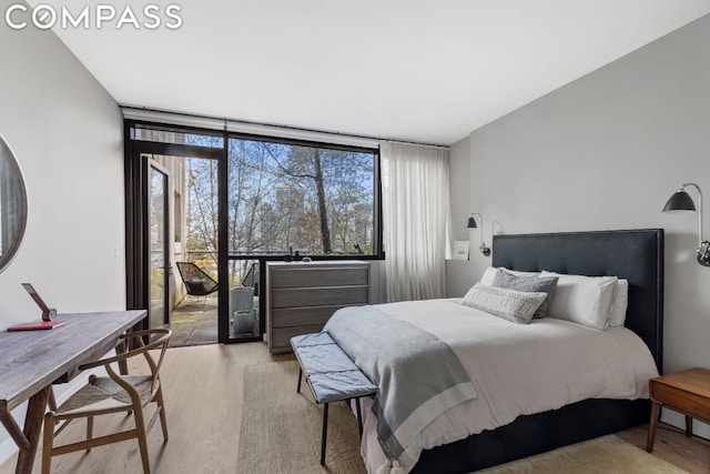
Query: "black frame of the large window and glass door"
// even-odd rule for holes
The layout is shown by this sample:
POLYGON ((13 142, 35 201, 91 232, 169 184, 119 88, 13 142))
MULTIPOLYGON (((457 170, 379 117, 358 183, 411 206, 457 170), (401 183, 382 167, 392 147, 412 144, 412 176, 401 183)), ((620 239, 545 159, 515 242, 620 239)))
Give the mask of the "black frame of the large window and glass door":
MULTIPOLYGON (((292 132, 291 129, 284 129, 292 132)), ((336 137, 337 134, 334 134, 336 137)), ((260 268, 260 285, 265 289, 266 272, 264 271, 267 261, 283 261, 284 255, 274 254, 229 254, 227 242, 227 229, 229 229, 229 190, 227 190, 227 173, 229 173, 229 140, 253 140, 253 141, 268 141, 274 143, 284 143, 302 147, 315 147, 323 149, 356 151, 372 153, 374 158, 373 165, 373 253, 372 254, 303 254, 302 256, 310 256, 313 261, 327 261, 327 260, 384 260, 384 235, 383 235, 383 205, 382 205, 382 160, 379 147, 367 148, 346 145, 337 143, 327 143, 312 140, 297 140, 291 138, 281 138, 264 134, 242 133, 236 131, 230 131, 226 129, 217 130, 214 128, 201 128, 192 125, 182 125, 170 122, 159 122, 151 120, 140 119, 126 119, 123 120, 123 148, 124 148, 124 199, 125 199, 125 282, 126 282, 126 309, 144 309, 148 302, 148 274, 144 269, 148 241, 145 238, 145 225, 148 222, 144 214, 143 205, 146 202, 146 196, 141 193, 141 185, 145 179, 144 171, 136 157, 141 153, 149 154, 166 154, 166 155, 197 155, 200 158, 209 158, 217 160, 217 202, 219 202, 219 216, 217 216, 217 273, 220 275, 219 284, 219 333, 221 343, 239 343, 250 341, 261 341, 262 334, 265 332, 265 317, 260 319, 260 333, 253 337, 244 337, 241 340, 229 337, 229 291, 230 291, 230 261, 233 260, 255 260, 258 261, 260 268), (182 131, 185 133, 205 134, 205 135, 221 135, 223 138, 223 147, 199 147, 180 143, 169 142, 155 142, 146 140, 133 139, 132 130, 134 127, 155 128, 158 130, 168 128, 168 131, 182 131), (222 278, 225 275, 225 278, 222 278)), ((171 256, 172 258, 172 256, 171 256)), ((265 299, 260 299, 261 314, 265 313, 265 299)), ((136 327, 144 327, 144 323, 136 325, 136 327)))

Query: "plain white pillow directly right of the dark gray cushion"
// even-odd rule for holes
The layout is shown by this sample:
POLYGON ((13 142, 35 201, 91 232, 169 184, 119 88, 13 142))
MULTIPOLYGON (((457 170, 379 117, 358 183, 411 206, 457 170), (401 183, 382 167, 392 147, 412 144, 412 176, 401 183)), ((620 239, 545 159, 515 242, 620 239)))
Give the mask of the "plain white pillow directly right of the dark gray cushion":
POLYGON ((542 272, 542 276, 559 276, 548 316, 598 330, 607 329, 611 301, 619 279, 566 275, 547 271, 542 272))

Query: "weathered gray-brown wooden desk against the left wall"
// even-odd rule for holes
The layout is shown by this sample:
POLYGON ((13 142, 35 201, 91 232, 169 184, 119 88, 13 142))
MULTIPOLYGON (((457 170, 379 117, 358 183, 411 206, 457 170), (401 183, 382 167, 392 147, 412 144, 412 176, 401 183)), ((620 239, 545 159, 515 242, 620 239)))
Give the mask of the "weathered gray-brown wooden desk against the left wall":
POLYGON ((82 363, 102 357, 145 310, 59 314, 64 324, 45 331, 0 332, 0 421, 20 455, 16 473, 30 473, 52 383, 77 375, 82 363), (29 400, 24 430, 10 413, 29 400))

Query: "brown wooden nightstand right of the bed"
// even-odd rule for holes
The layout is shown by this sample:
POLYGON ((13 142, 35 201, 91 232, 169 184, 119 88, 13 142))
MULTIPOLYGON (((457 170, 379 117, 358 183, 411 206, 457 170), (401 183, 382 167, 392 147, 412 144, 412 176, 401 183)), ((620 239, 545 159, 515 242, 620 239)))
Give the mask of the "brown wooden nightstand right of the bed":
POLYGON ((646 451, 653 451, 656 425, 661 406, 686 415, 686 434, 692 435, 692 418, 710 423, 710 370, 689 369, 661 375, 649 382, 651 420, 648 425, 646 451))

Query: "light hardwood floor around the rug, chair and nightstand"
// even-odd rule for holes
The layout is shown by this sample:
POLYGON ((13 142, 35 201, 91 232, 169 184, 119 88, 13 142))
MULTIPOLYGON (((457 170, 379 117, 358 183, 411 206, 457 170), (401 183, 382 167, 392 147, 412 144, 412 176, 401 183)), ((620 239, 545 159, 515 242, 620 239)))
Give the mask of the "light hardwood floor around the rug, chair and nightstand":
MULTIPOLYGON (((237 445, 242 417, 243 369, 248 364, 293 359, 272 356, 263 343, 213 344, 169 349, 162 377, 168 410, 170 441, 162 442, 160 426, 149 435, 152 472, 239 473, 237 445)), ((130 420, 130 418, 129 418, 130 420)), ((130 423, 125 416, 97 420, 97 434, 130 423)), ((84 424, 75 423, 58 440, 83 436, 84 424)), ((620 437, 641 448, 646 426, 628 430, 620 437)), ((689 473, 710 473, 710 442, 686 437, 668 426, 659 426, 653 454, 689 473)), ((34 473, 40 472, 38 453, 34 473)), ((0 474, 14 472, 16 458, 0 466, 0 474)), ((142 473, 134 441, 58 456, 53 474, 142 473)))

